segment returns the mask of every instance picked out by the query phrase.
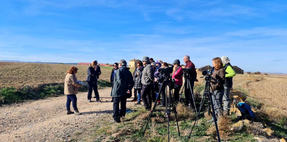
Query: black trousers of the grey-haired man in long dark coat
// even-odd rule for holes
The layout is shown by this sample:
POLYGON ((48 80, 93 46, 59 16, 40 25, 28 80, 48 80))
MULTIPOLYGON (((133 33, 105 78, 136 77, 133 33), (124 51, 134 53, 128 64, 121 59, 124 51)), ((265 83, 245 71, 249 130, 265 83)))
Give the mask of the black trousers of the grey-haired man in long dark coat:
POLYGON ((126 103, 127 103, 127 97, 121 96, 121 97, 114 97, 114 104, 113 104, 113 115, 112 118, 120 122, 121 117, 126 116, 126 103), (119 104, 121 103, 121 111, 119 112, 119 104))

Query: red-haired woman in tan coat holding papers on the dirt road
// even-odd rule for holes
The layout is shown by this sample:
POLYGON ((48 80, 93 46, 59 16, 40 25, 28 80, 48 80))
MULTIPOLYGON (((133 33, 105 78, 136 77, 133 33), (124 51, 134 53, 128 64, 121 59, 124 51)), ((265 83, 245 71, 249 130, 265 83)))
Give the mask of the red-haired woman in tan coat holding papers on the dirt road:
POLYGON ((67 102, 66 102, 66 107, 67 107, 67 115, 68 114, 74 114, 70 110, 70 105, 72 102, 72 106, 75 110, 75 115, 80 115, 79 110, 77 108, 77 96, 76 94, 78 93, 78 88, 81 86, 81 84, 78 82, 75 74, 77 73, 78 69, 76 67, 71 67, 66 75, 65 78, 65 88, 64 88, 64 94, 67 95, 67 102))

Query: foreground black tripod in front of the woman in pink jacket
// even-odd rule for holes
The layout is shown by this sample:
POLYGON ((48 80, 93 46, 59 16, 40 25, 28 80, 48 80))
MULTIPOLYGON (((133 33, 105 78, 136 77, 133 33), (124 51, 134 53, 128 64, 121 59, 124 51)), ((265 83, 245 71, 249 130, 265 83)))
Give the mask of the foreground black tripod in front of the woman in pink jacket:
MULTIPOLYGON (((164 80, 162 82, 162 86, 161 88, 159 89, 159 95, 157 96, 157 100, 155 101, 155 104, 152 108, 152 111, 150 112, 150 116, 148 117, 148 122, 150 121, 150 118, 152 116, 152 113, 153 111, 155 110, 155 107, 157 106, 157 101, 159 100, 159 97, 160 97, 160 94, 161 94, 161 91, 163 90, 163 86, 165 86, 165 104, 166 104, 166 118, 168 119, 168 141, 169 141, 169 137, 170 137, 170 134, 169 134, 169 119, 170 119, 170 114, 171 112, 173 112, 175 114, 175 120, 176 120, 176 123, 177 123, 177 130, 178 130, 178 135, 180 137, 180 132, 179 132, 179 125, 178 125, 178 121, 177 121, 177 111, 176 111, 176 107, 175 107, 175 100, 174 100, 174 97, 173 97, 173 92, 172 92, 172 89, 173 86, 175 86, 175 84, 171 81, 171 76, 170 74, 164 74, 164 80), (167 89, 167 86, 169 89, 167 89), (169 97, 167 97, 167 90, 169 90, 169 97), (167 100, 168 99, 168 100, 167 100), (172 110, 171 110, 171 107, 172 107, 172 110)), ((146 128, 148 127, 148 122, 146 123, 146 128)), ((143 136, 146 132, 146 128, 144 129, 144 133, 143 133, 143 136)))

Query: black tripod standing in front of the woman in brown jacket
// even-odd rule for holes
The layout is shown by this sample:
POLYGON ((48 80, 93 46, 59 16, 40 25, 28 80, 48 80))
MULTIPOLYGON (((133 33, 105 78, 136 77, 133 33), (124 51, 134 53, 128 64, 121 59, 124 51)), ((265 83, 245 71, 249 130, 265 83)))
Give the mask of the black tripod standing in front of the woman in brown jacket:
MULTIPOLYGON (((195 127, 195 130, 197 128, 197 124, 198 124, 198 119, 199 119, 199 114, 202 110, 202 108, 204 107, 204 104, 205 104, 205 100, 206 98, 208 98, 208 115, 210 115, 210 106, 212 108, 212 116, 213 116, 213 120, 215 122, 215 128, 216 128, 216 133, 217 133, 217 138, 218 138, 218 141, 220 142, 220 137, 219 137, 219 132, 218 132, 218 127, 217 127, 217 118, 215 116, 215 111, 214 111, 214 106, 213 106, 213 101, 212 101, 212 95, 215 97, 215 94, 213 93, 213 90, 212 88, 210 87, 210 83, 211 83, 211 79, 212 79, 212 76, 211 75, 207 75, 207 76, 202 76, 200 78, 204 78, 205 77, 205 86, 204 86, 204 92, 202 94, 202 99, 201 99, 201 103, 200 103, 200 108, 199 108, 199 111, 197 113, 197 116, 196 116, 196 119, 195 119, 195 122, 191 128, 191 131, 190 131, 190 134, 189 134, 189 137, 188 139, 190 139, 190 136, 191 136, 191 133, 195 127), (211 91, 212 93, 210 92, 210 88, 211 88, 211 91)), ((203 112, 204 113, 204 112, 203 112)))

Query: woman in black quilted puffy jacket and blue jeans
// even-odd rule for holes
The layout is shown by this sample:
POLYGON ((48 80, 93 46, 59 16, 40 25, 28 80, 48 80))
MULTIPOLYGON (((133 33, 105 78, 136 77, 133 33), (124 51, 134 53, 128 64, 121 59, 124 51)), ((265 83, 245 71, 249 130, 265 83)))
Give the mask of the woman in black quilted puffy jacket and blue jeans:
POLYGON ((135 74, 134 74, 134 80, 135 80, 135 85, 134 85, 134 89, 135 91, 137 91, 137 103, 135 103, 136 105, 141 104, 141 89, 143 84, 141 83, 141 77, 143 75, 143 63, 141 61, 137 62, 137 69, 135 70, 135 74))

